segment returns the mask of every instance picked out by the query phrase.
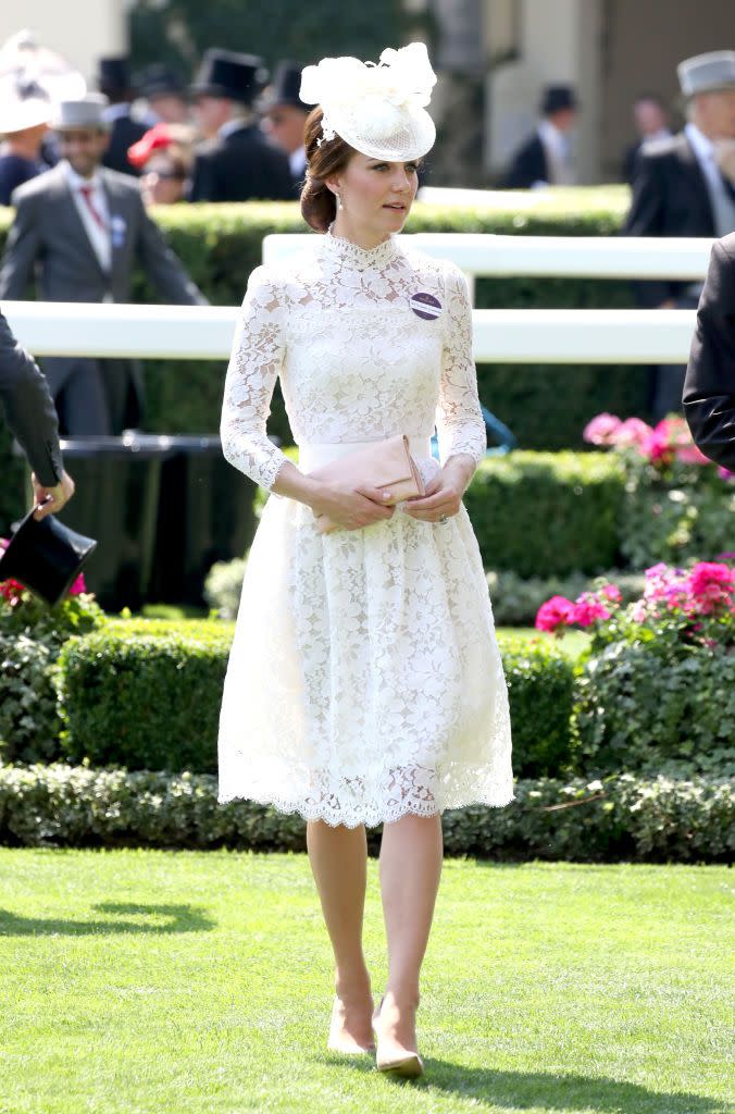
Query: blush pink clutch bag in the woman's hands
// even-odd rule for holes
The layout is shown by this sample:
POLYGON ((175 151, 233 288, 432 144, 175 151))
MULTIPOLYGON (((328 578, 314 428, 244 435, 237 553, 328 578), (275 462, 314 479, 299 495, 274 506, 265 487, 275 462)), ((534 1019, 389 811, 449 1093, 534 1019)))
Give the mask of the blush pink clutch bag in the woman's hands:
MULTIPOLYGON (((318 480, 340 480, 354 483, 355 487, 369 483, 380 488, 391 497, 385 500, 386 507, 424 494, 421 473, 411 456, 409 439, 403 433, 347 452, 344 457, 315 468, 308 475, 318 480)), ((320 534, 329 534, 330 530, 337 529, 337 526, 329 515, 318 515, 316 528, 320 534)))

